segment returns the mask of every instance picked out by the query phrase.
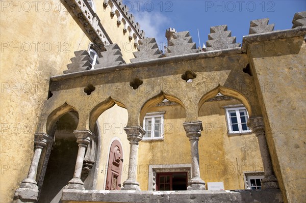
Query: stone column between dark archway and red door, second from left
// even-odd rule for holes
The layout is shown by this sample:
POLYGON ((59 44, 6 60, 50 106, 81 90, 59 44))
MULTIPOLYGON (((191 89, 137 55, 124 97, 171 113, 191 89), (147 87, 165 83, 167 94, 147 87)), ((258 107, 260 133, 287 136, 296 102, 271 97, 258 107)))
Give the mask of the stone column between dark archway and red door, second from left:
POLYGON ((77 142, 79 143, 79 151, 77 156, 77 162, 75 163, 73 179, 68 182, 67 189, 85 190, 84 183, 81 180, 83 161, 87 145, 90 143, 90 139, 94 138, 94 134, 89 130, 75 130, 73 131, 77 142))

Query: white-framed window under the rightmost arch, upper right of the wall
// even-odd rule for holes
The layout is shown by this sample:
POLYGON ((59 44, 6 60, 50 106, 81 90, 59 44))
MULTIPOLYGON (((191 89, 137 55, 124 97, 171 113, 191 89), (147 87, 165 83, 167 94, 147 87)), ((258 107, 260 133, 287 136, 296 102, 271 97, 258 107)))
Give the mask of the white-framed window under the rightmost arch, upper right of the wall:
POLYGON ((246 125, 248 121, 248 112, 243 105, 224 106, 226 113, 227 128, 229 134, 251 132, 246 125))

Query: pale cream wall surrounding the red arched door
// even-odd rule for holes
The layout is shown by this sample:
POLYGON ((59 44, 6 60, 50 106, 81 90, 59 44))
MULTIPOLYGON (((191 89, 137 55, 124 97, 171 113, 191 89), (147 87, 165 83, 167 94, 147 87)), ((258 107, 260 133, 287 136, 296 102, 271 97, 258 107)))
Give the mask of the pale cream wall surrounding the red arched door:
POLYGON ((123 127, 127 123, 127 110, 117 105, 103 112, 99 118, 99 132, 101 134, 101 154, 98 173, 97 190, 104 190, 106 187, 105 179, 107 178, 107 164, 109 159, 110 147, 114 139, 120 141, 123 150, 123 166, 121 175, 122 183, 127 179, 127 170, 130 157, 130 143, 123 127))

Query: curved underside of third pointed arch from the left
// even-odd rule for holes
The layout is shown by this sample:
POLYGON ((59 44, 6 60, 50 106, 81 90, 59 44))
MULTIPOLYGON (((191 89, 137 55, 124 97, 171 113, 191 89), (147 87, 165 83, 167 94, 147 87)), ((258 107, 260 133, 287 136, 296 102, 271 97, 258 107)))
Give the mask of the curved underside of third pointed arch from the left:
POLYGON ((185 108, 183 102, 182 102, 179 98, 177 98, 177 97, 175 97, 175 96, 173 96, 173 95, 166 94, 166 93, 164 93, 164 92, 162 91, 162 92, 161 92, 160 94, 158 94, 157 96, 152 97, 152 98, 150 98, 149 100, 147 100, 147 101, 143 104, 143 106, 141 107, 140 114, 139 114, 140 126, 143 125, 143 118, 144 118, 145 114, 148 112, 149 108, 151 108, 151 107, 153 107, 153 106, 155 106, 155 105, 161 103, 162 101, 164 101, 164 99, 167 99, 167 100, 169 100, 169 101, 171 101, 171 102, 178 103, 178 104, 180 104, 180 105, 186 110, 186 108, 185 108))

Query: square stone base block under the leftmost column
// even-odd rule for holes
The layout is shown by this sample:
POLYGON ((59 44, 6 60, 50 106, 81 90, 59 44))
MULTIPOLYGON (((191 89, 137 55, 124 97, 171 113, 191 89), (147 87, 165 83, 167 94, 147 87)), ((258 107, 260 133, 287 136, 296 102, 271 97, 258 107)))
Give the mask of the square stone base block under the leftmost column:
MULTIPOLYGON (((37 187, 37 186, 36 186, 37 187)), ((36 202, 38 198, 38 187, 33 188, 18 188, 14 194, 14 201, 16 203, 21 202, 36 202)))

